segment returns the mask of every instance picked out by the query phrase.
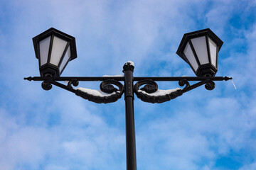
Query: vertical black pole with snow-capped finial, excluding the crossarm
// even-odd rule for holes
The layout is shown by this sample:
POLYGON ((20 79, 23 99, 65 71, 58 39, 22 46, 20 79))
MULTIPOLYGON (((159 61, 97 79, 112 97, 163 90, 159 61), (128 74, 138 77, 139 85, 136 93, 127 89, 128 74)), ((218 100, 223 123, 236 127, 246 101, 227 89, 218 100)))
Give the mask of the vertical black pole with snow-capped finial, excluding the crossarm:
POLYGON ((137 170, 136 142, 134 126, 134 89, 133 70, 134 66, 127 62, 123 67, 124 72, 124 100, 125 100, 125 130, 127 149, 127 170, 137 170))

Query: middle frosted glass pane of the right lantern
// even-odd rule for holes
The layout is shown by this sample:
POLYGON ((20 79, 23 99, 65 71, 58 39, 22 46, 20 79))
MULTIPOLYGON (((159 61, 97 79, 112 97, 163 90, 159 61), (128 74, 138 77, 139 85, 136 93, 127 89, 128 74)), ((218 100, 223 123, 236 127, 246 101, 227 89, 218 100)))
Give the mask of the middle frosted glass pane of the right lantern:
POLYGON ((206 47, 206 36, 191 39, 196 55, 198 56, 200 64, 208 64, 208 53, 206 47))

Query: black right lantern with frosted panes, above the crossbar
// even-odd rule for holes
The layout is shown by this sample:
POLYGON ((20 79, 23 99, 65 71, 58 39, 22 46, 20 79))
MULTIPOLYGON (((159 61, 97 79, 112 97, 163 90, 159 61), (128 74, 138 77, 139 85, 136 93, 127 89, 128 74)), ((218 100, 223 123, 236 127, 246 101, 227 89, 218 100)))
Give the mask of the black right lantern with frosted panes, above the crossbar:
POLYGON ((184 34, 176 53, 191 66, 197 77, 214 77, 222 45, 223 41, 208 28, 184 34))

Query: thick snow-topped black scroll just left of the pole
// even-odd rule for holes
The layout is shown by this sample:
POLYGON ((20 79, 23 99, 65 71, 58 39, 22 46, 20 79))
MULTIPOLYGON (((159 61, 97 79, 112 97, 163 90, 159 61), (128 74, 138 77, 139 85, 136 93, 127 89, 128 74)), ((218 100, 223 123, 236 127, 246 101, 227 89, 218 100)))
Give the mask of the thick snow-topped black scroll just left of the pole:
POLYGON ((117 101, 119 98, 121 98, 122 94, 124 94, 124 86, 119 81, 112 79, 102 81, 100 84, 100 90, 105 92, 106 95, 102 94, 97 96, 80 89, 75 89, 75 94, 95 103, 112 103, 117 101), (114 88, 112 84, 116 85, 119 89, 114 88))

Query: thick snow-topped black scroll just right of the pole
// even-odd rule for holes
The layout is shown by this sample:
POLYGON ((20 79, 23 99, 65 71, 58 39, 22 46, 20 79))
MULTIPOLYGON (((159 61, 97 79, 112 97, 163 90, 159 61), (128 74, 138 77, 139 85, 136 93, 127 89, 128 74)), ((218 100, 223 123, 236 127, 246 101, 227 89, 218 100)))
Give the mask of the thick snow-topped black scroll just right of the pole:
POLYGON ((134 91, 138 98, 149 103, 164 103, 183 94, 181 89, 166 90, 163 94, 154 94, 154 92, 158 91, 158 85, 152 80, 138 81, 134 85, 134 91), (144 84, 146 85, 142 89, 139 89, 144 84))

